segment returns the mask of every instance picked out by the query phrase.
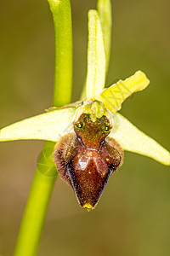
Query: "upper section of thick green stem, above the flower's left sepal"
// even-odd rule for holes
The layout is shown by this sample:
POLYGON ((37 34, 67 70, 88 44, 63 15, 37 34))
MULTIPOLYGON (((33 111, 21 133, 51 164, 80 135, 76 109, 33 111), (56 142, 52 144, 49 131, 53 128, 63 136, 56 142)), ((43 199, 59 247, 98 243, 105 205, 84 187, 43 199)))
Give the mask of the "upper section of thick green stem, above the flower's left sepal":
POLYGON ((72 24, 69 0, 48 0, 54 18, 55 74, 54 106, 71 102, 72 24))

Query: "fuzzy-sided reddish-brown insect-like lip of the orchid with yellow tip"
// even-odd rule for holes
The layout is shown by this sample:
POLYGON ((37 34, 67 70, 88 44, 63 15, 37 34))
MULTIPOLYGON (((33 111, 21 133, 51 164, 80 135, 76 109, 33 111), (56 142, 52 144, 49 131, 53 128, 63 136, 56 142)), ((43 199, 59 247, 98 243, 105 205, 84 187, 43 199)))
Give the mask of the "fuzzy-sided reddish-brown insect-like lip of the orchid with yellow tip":
POLYGON ((112 172, 122 165, 122 148, 108 137, 111 123, 104 115, 92 121, 82 113, 74 122, 75 133, 62 137, 54 149, 61 178, 74 189, 81 207, 93 209, 112 172))

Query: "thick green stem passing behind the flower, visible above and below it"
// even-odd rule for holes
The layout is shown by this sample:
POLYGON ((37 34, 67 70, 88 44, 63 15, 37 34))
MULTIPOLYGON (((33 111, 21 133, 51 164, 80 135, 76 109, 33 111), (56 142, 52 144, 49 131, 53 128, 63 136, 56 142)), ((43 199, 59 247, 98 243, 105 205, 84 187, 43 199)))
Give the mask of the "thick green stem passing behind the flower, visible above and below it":
MULTIPOLYGON (((71 102, 72 28, 69 0, 48 0, 54 17, 55 75, 54 106, 71 102)), ((35 256, 42 235, 48 203, 57 177, 53 151, 55 143, 45 143, 26 203, 14 256, 35 256)))

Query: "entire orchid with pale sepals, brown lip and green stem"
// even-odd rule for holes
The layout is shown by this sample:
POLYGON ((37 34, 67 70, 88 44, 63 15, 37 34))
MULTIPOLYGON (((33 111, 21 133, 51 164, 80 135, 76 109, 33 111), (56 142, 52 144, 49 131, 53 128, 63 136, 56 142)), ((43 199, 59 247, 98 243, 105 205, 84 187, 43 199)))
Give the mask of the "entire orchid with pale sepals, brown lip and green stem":
POLYGON ((71 104, 71 4, 69 0, 48 3, 55 31, 54 106, 59 107, 0 130, 0 142, 47 142, 37 162, 14 256, 36 255, 56 166, 60 177, 74 189, 80 206, 88 211, 96 206, 111 173, 122 166, 123 150, 170 166, 167 149, 118 113, 128 96, 148 86, 145 74, 137 71, 105 88, 111 48, 111 1, 99 0, 98 10, 88 12, 87 79, 82 101, 71 104))

